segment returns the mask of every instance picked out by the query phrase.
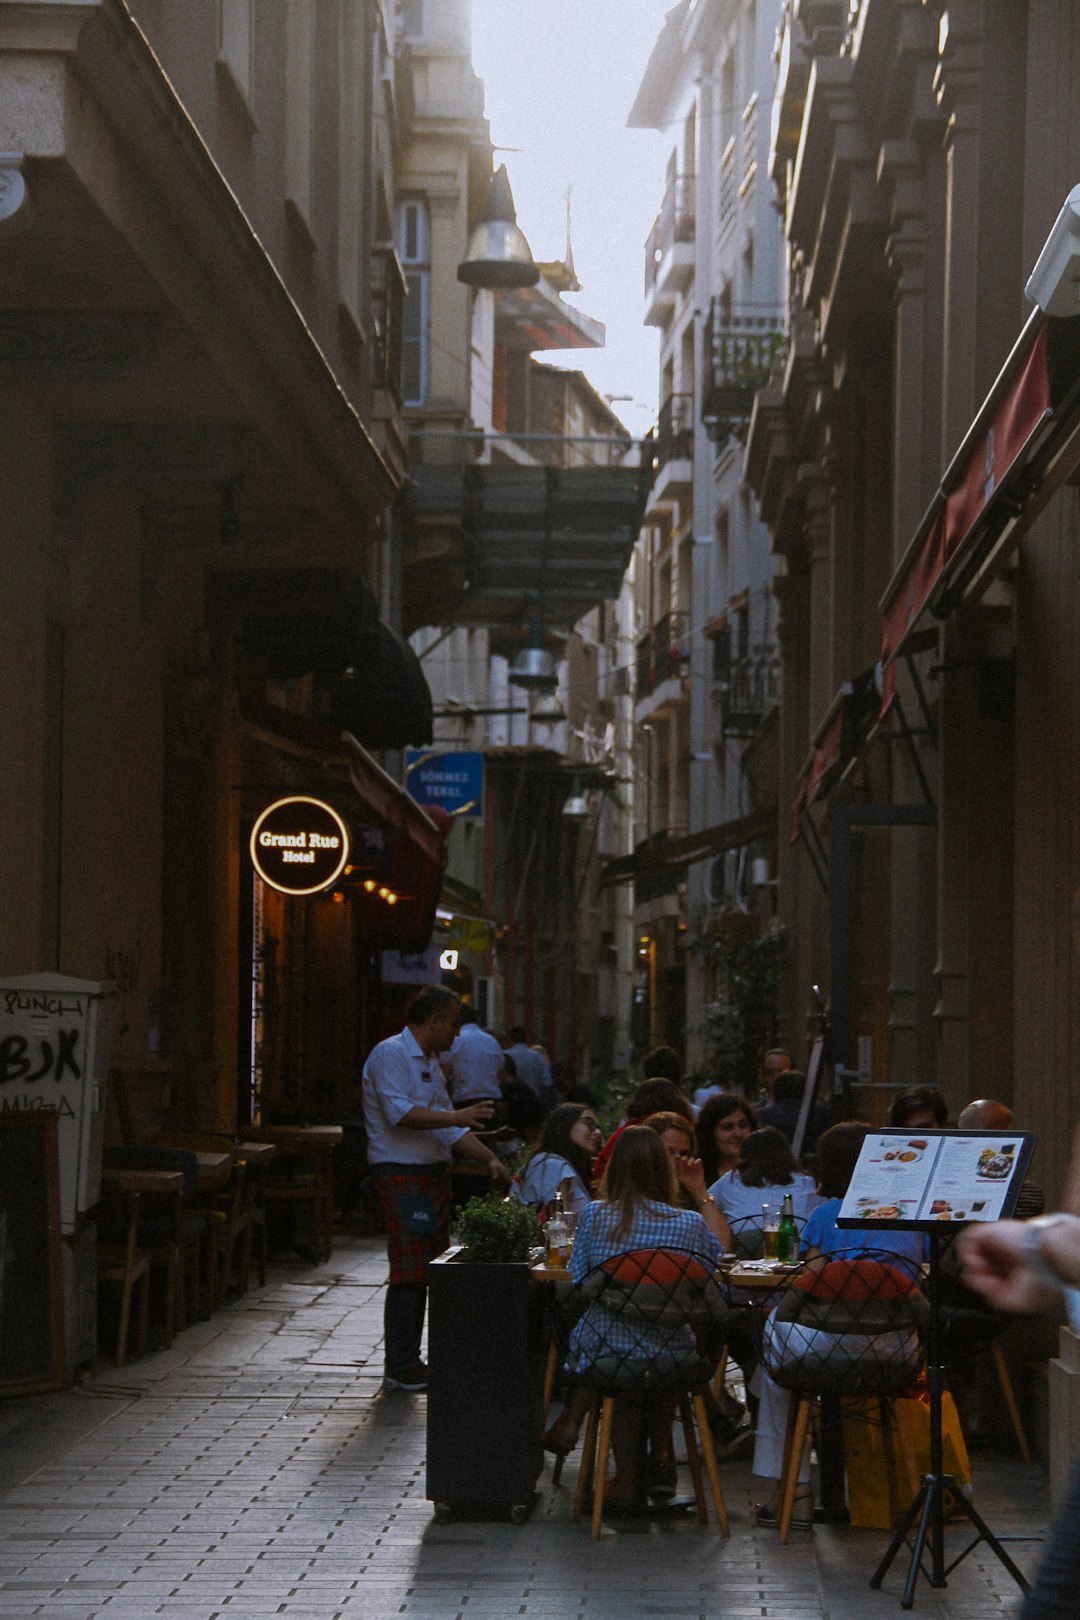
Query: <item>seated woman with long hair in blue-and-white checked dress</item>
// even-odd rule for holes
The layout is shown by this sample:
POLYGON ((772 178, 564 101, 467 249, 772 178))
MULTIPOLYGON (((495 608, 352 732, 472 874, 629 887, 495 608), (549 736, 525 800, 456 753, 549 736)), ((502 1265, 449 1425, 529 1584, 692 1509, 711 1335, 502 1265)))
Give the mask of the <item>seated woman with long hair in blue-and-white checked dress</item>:
MULTIPOLYGON (((580 1285, 597 1265, 635 1249, 680 1249, 712 1270, 722 1249, 701 1215, 677 1209, 678 1191, 670 1158, 659 1136, 644 1126, 622 1131, 604 1174, 601 1199, 589 1204, 578 1218, 570 1256, 570 1277, 580 1285)), ((643 1358, 685 1356, 693 1351, 691 1328, 678 1322, 657 1322, 643 1328, 617 1320, 602 1302, 593 1301, 570 1333, 567 1371, 583 1372, 599 1358, 620 1354, 630 1361, 643 1358)), ((589 1392, 572 1390, 565 1411, 555 1419, 544 1445, 565 1455, 578 1439, 588 1409, 589 1392)), ((669 1497, 674 1490, 675 1463, 670 1450, 674 1396, 625 1395, 615 1401, 612 1448, 615 1477, 607 1487, 609 1507, 631 1508, 651 1495, 669 1497), (649 1481, 636 1477, 638 1440, 646 1426, 653 1460, 649 1481)))

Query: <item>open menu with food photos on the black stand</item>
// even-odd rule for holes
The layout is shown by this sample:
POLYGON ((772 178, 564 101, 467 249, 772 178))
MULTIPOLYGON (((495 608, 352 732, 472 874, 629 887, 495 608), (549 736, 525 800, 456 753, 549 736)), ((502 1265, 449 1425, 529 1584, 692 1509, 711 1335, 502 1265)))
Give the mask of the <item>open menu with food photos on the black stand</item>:
POLYGON ((1033 1131, 873 1131, 837 1225, 931 1226, 1012 1215, 1033 1131))

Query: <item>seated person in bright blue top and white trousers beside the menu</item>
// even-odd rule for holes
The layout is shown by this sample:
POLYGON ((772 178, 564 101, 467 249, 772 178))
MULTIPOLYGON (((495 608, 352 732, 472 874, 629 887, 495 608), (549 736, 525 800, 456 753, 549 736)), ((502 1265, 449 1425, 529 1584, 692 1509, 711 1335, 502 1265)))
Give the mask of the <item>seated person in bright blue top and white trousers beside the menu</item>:
MULTIPOLYGON (((836 1223, 844 1202, 844 1194, 847 1192, 852 1176, 855 1174, 855 1165, 868 1131, 868 1124, 852 1121, 847 1124, 834 1124, 821 1137, 818 1144, 818 1192, 824 1202, 819 1204, 811 1213, 803 1230, 803 1259, 811 1264, 818 1262, 819 1267, 824 1267, 829 1260, 836 1259, 857 1260, 860 1257, 882 1257, 887 1254, 891 1257, 891 1270, 899 1272, 902 1278, 915 1283, 915 1280, 921 1275, 921 1265, 926 1256, 926 1239, 921 1233, 887 1231, 884 1228, 860 1231, 858 1228, 840 1228, 836 1223)), ((918 1290, 912 1288, 910 1294, 918 1296, 918 1290)), ((789 1301, 785 1296, 777 1311, 769 1317, 769 1324, 766 1327, 766 1361, 771 1358, 771 1353, 772 1356, 782 1354, 785 1320, 777 1319, 790 1320, 787 1304, 789 1301)), ((918 1296, 918 1306, 925 1307, 921 1296, 918 1296)), ((801 1349, 805 1349, 805 1341, 800 1341, 800 1345, 801 1349)), ((873 1343, 868 1343, 865 1349, 868 1358, 873 1359, 873 1343)), ((889 1345, 887 1349, 889 1356, 895 1354, 894 1345, 889 1345)), ((763 1371, 759 1377, 761 1388, 758 1432, 755 1439, 753 1482, 759 1487, 758 1494, 764 1495, 766 1500, 756 1507, 755 1513, 759 1524, 776 1524, 779 1484, 784 1468, 787 1414, 792 1396, 790 1392, 780 1388, 767 1372, 763 1371)), ((795 1497, 795 1516, 792 1518, 792 1528, 810 1529, 811 1524, 813 1503, 810 1495, 810 1461, 803 1453, 798 1466, 798 1492, 795 1497)))

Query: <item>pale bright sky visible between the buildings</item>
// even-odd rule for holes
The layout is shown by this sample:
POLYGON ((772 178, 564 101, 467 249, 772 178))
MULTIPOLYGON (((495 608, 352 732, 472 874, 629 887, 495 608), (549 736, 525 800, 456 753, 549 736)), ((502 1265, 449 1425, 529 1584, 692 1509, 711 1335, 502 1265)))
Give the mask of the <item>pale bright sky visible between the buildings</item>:
POLYGON ((644 238, 664 194, 669 131, 627 115, 674 0, 473 0, 473 60, 518 224, 538 259, 560 259, 572 194, 581 292, 607 347, 546 355, 578 366, 635 434, 656 420, 659 332, 641 324, 644 238), (520 147, 520 151, 505 151, 520 147))

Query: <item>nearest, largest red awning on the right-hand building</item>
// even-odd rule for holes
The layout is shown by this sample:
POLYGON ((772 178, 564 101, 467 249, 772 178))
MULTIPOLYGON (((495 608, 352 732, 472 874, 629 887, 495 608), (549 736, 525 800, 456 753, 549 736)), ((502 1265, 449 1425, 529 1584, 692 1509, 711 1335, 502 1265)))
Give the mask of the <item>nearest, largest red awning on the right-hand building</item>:
POLYGON ((895 692, 894 659, 939 586, 994 509, 1006 510, 1051 411, 1048 321, 1036 311, 941 481, 881 599, 882 713, 895 692))

